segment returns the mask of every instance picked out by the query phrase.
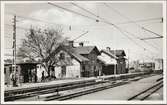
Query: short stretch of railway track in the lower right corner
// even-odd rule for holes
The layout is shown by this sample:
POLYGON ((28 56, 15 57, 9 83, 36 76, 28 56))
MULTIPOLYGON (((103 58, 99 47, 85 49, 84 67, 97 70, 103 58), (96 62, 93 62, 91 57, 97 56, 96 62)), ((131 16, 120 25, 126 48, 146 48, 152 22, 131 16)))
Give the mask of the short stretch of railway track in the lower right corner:
POLYGON ((128 100, 129 101, 131 101, 131 100, 143 101, 162 87, 163 87, 163 81, 162 81, 162 78, 160 78, 157 80, 157 82, 153 86, 151 86, 151 87, 145 89, 144 91, 130 97, 128 100))

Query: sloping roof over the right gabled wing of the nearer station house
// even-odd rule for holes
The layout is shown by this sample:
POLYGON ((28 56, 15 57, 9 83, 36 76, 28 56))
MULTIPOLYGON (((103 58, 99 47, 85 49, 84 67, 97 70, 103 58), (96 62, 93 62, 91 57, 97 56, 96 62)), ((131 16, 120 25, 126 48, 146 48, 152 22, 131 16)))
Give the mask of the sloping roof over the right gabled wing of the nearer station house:
POLYGON ((95 50, 97 54, 100 55, 100 52, 96 46, 79 46, 79 47, 75 47, 74 50, 78 54, 90 54, 93 50, 95 50))

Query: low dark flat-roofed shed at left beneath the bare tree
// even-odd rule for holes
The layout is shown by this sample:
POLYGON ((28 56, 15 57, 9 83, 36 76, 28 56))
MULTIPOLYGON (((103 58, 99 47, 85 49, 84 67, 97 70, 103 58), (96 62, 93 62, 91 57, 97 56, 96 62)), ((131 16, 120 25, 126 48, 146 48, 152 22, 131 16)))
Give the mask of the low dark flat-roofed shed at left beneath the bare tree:
POLYGON ((10 64, 4 64, 4 77, 5 84, 11 84, 11 73, 16 68, 16 73, 18 74, 18 83, 27 83, 27 82, 37 82, 37 64, 38 63, 16 63, 16 67, 10 64))

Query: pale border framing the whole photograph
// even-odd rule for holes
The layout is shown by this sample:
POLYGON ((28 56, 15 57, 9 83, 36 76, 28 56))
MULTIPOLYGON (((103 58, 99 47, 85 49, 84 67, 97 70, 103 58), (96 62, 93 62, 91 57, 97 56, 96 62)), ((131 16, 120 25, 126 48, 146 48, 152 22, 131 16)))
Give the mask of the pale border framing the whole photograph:
POLYGON ((166 0, 165 1, 1 1, 1 104, 167 104, 166 91, 166 0), (163 62, 164 86, 163 101, 15 101, 4 102, 4 6, 6 3, 47 3, 47 2, 105 2, 105 3, 161 3, 163 5, 163 62))

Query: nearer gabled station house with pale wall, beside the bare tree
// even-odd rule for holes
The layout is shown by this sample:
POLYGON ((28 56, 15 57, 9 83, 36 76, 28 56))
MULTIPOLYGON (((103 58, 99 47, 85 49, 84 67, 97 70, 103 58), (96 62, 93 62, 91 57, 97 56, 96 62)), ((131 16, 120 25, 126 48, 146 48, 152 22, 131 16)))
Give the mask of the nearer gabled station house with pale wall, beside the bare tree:
POLYGON ((59 61, 55 65, 57 78, 76 78, 98 76, 101 64, 97 60, 100 55, 96 46, 74 46, 73 41, 69 45, 59 46, 56 56, 59 61))

